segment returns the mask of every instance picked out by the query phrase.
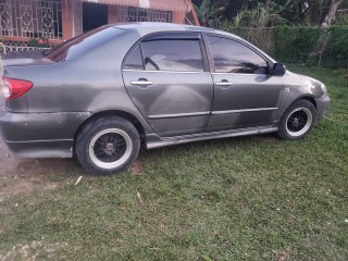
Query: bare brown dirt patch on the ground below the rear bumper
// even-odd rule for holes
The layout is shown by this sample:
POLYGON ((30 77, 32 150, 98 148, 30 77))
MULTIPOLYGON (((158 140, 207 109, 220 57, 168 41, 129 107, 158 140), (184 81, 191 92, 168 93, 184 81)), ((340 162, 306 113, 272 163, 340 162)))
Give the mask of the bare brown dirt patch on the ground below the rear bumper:
POLYGON ((45 177, 61 175, 73 165, 71 159, 15 158, 0 137, 0 202, 17 194, 57 188, 58 183, 45 177))

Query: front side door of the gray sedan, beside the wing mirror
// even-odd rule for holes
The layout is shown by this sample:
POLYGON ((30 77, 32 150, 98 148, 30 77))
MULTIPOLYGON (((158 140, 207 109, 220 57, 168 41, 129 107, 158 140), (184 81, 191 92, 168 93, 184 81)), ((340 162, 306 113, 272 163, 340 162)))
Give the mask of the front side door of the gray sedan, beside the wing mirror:
POLYGON ((207 35, 214 82, 207 130, 268 126, 275 121, 283 95, 282 77, 271 62, 244 41, 207 35))

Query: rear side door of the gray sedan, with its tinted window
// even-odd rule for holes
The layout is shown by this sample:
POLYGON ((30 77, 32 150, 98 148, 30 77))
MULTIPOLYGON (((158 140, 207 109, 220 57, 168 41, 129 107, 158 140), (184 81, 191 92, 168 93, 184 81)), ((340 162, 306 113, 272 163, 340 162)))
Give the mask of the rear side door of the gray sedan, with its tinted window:
POLYGON ((125 58, 123 78, 133 102, 161 137, 207 127, 213 82, 199 33, 158 33, 125 58))

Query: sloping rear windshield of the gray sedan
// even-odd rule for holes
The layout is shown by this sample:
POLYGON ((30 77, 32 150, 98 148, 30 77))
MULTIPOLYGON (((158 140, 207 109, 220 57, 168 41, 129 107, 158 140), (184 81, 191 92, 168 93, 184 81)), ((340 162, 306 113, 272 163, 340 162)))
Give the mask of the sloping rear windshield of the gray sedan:
POLYGON ((44 51, 44 55, 51 61, 62 62, 76 57, 90 48, 101 45, 123 32, 123 29, 109 26, 99 27, 44 51))

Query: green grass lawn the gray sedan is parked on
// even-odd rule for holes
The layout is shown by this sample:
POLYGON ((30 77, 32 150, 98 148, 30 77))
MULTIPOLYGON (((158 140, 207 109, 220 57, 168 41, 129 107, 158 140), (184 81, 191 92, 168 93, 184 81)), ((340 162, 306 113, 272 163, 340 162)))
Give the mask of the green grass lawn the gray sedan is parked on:
POLYGON ((0 259, 347 260, 345 72, 290 69, 324 82, 333 102, 306 139, 142 151, 138 175, 83 174, 77 186, 77 165, 49 175, 59 189, 0 203, 0 259))

